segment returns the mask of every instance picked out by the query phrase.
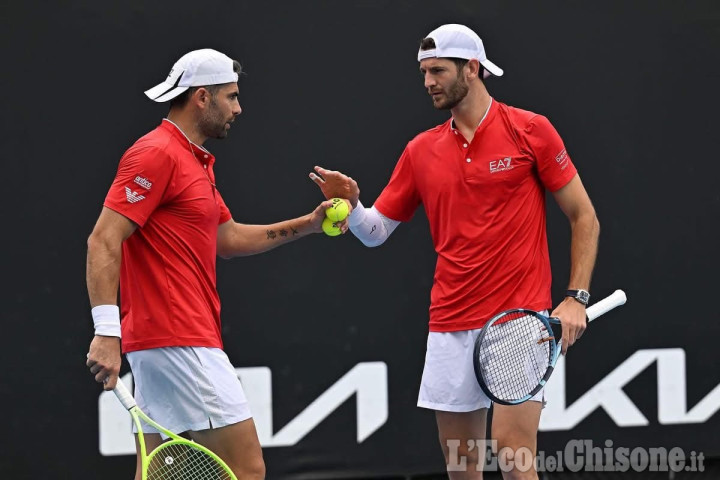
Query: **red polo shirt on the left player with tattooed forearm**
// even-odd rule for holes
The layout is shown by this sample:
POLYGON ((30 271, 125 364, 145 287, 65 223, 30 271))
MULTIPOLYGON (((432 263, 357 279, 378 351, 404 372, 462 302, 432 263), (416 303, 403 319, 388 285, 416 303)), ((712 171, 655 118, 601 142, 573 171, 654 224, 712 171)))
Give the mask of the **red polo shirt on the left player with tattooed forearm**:
POLYGON ((222 347, 217 230, 231 215, 214 162, 168 120, 120 160, 104 205, 138 225, 122 246, 124 352, 222 347))

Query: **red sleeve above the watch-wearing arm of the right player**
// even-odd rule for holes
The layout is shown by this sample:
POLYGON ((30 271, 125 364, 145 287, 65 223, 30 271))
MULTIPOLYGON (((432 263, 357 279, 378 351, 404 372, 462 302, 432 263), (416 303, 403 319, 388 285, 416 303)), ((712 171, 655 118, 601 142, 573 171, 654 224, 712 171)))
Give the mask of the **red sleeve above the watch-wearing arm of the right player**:
POLYGON ((525 134, 545 188, 555 192, 567 185, 575 177, 577 170, 550 121, 542 115, 534 116, 528 123, 525 134))

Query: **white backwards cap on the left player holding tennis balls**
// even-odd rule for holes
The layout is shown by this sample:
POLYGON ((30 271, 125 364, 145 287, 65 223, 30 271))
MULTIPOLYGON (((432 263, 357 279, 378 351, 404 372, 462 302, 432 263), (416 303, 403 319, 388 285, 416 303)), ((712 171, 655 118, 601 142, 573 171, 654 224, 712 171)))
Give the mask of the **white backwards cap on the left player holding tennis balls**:
POLYGON ((150 90, 145 91, 151 100, 167 102, 190 87, 221 85, 237 82, 233 60, 211 48, 193 50, 175 62, 168 77, 150 90))

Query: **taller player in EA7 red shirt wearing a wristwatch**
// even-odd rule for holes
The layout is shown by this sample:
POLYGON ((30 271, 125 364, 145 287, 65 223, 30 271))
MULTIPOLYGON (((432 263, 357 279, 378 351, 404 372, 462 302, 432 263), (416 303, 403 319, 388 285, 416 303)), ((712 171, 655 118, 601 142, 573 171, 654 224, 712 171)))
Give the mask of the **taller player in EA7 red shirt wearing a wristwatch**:
MULTIPOLYGON (((418 406, 435 410, 450 478, 480 479, 485 452, 468 440, 485 438, 490 400, 473 372, 474 340, 503 310, 552 307, 545 191, 572 228, 567 298, 552 312, 562 322, 564 351, 585 329, 600 226, 548 119, 488 93, 484 79, 503 71, 475 32, 456 24, 433 30, 418 61, 433 105, 452 116, 408 143, 375 204, 364 208, 357 182, 340 172, 315 167, 310 178, 326 197, 350 199, 350 230, 367 246, 382 244, 424 207, 438 258, 418 406)), ((525 447, 534 459, 542 406, 542 392, 517 406, 495 405, 498 449, 525 447)), ((524 467, 503 474, 537 478, 534 462, 524 467)))

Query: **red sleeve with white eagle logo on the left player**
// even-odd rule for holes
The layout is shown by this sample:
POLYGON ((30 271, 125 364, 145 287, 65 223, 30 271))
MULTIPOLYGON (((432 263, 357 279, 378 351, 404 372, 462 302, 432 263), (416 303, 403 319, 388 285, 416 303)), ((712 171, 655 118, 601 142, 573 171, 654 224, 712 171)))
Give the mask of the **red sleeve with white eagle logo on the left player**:
POLYGON ((161 148, 130 147, 120 159, 104 205, 142 227, 164 203, 174 172, 175 161, 161 148))

